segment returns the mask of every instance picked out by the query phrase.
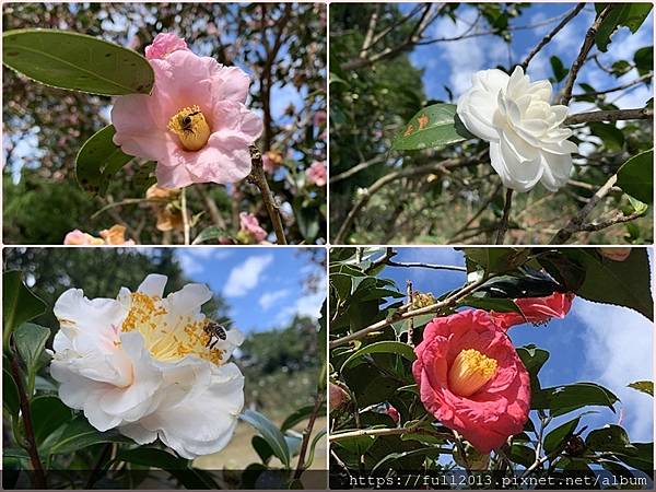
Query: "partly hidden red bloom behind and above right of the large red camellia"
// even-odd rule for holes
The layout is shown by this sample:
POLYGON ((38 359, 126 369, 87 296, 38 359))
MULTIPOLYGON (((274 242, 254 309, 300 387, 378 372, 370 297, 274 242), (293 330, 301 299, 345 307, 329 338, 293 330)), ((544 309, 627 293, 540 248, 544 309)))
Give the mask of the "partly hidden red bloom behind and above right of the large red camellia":
POLYGON ((534 325, 543 325, 551 318, 564 318, 574 300, 573 293, 563 294, 554 292, 547 297, 525 297, 516 298, 515 304, 522 309, 519 313, 490 313, 494 321, 503 329, 508 329, 515 325, 532 323, 534 325))

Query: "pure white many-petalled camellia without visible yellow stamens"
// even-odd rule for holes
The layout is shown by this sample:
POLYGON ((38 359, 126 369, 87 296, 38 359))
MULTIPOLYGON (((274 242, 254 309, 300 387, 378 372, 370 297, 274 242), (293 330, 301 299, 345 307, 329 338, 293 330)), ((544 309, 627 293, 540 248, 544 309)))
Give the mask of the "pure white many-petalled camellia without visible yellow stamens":
POLYGON ((508 77, 501 70, 482 70, 458 101, 465 127, 490 142, 490 161, 506 188, 528 191, 541 181, 550 191, 567 183, 575 143, 572 130, 561 125, 567 107, 551 106, 551 84, 530 83, 522 67, 508 77))

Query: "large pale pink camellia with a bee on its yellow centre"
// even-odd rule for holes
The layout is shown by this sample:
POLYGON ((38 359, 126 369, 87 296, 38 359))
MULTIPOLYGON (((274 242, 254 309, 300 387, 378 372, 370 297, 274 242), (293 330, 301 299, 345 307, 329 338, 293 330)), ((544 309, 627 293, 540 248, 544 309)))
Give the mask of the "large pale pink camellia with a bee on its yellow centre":
POLYGON ((116 98, 114 143, 155 161, 162 188, 243 179, 250 173, 248 145, 262 131, 261 119, 244 105, 250 78, 183 49, 174 35, 157 38, 147 48, 152 93, 116 98))

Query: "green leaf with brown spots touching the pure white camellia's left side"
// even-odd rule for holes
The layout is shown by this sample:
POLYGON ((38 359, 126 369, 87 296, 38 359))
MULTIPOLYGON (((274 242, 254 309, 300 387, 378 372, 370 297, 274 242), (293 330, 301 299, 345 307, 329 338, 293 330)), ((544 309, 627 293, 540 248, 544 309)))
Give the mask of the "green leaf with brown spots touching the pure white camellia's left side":
POLYGON ((394 150, 421 150, 476 138, 459 120, 455 104, 434 104, 414 115, 391 143, 394 150))

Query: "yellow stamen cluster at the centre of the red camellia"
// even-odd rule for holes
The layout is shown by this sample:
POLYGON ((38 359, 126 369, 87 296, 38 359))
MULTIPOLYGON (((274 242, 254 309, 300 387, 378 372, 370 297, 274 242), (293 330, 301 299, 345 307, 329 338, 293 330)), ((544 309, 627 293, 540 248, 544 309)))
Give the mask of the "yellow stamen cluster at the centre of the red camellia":
POLYGON ((448 372, 450 390, 469 397, 481 389, 496 373, 496 361, 476 349, 462 350, 448 372))

